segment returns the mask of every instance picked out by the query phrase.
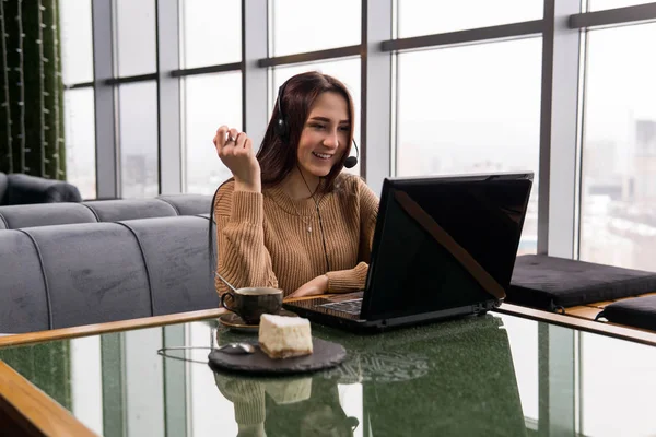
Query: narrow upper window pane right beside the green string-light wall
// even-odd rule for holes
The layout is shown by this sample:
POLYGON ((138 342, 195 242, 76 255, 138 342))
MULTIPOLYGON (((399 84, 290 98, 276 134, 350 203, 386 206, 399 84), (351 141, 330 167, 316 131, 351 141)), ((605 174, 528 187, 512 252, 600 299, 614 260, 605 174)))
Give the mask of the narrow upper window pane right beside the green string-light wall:
POLYGON ((59 23, 63 83, 93 81, 91 0, 60 0, 59 23))

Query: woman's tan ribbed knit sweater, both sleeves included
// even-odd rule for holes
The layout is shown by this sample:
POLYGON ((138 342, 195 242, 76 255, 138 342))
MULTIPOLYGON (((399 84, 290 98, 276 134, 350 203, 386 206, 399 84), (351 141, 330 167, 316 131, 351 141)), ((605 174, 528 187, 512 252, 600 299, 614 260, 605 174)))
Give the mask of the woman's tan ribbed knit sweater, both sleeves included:
MULTIPOLYGON (((366 280, 378 199, 364 181, 341 174, 335 190, 317 194, 330 272, 315 203, 292 200, 280 187, 261 193, 219 189, 218 272, 235 287, 270 286, 284 295, 328 275, 329 293, 362 290, 366 280)), ((219 294, 227 287, 215 280, 219 294)))

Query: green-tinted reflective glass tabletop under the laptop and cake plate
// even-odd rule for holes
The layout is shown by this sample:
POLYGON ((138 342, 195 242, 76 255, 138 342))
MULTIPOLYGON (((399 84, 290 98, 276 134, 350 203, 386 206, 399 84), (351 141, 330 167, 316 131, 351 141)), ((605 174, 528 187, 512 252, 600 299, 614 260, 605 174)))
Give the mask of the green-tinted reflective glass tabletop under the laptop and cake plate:
POLYGON ((0 349, 105 436, 654 435, 656 349, 508 315, 376 335, 313 324, 337 368, 214 373, 210 347, 256 341, 215 319, 0 349), (163 347, 195 346, 191 350, 163 347), (159 353, 160 351, 160 353, 159 353))

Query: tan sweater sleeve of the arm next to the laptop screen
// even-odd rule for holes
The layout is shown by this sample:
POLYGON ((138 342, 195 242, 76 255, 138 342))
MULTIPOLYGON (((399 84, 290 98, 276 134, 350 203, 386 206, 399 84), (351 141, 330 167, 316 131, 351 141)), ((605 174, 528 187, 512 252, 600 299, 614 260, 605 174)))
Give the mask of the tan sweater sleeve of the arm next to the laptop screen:
POLYGON ((372 256, 374 229, 378 216, 378 198, 360 178, 358 180, 358 205, 360 211, 359 263, 353 269, 328 272, 328 293, 350 293, 364 288, 368 262, 372 256))

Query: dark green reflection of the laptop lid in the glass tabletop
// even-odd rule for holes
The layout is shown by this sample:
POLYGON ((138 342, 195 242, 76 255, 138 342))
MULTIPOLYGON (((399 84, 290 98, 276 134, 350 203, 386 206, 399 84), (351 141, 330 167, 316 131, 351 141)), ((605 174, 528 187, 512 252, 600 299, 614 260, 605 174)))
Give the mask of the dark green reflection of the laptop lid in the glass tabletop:
MULTIPOLYGON (((397 356, 407 356, 402 361, 407 368, 371 374, 363 382, 363 422, 371 428, 370 435, 527 435, 501 319, 488 315, 454 323, 471 326, 461 330, 448 327, 449 332, 442 333, 437 332, 443 330, 440 326, 433 329, 434 336, 418 332, 414 342, 399 336, 399 344, 385 346, 397 356), (419 375, 421 366, 410 358, 418 355, 424 356, 425 375, 419 375), (395 381, 395 377, 406 379, 395 381)), ((380 367, 379 358, 377 363, 380 367)))

